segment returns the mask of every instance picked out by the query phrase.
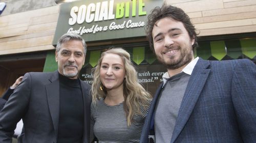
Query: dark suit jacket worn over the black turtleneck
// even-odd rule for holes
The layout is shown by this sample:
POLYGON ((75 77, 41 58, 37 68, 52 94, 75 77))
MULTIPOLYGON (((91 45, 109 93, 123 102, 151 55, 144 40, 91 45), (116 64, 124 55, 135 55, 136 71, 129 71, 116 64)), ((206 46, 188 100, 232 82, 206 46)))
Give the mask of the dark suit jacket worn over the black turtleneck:
MULTIPOLYGON (((81 82, 84 103, 83 143, 89 142, 91 86, 81 82)), ((26 73, 0 112, 0 142, 11 142, 16 123, 23 119, 26 143, 57 141, 59 121, 58 71, 26 73)))

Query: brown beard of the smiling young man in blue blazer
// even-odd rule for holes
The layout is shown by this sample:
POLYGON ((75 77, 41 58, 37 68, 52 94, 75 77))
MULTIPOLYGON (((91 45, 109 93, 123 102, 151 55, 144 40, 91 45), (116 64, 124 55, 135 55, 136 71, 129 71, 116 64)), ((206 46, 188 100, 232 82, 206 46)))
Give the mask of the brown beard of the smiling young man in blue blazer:
POLYGON ((169 56, 168 60, 165 60, 162 56, 163 53, 161 55, 156 55, 157 60, 160 63, 162 63, 167 69, 171 69, 171 70, 178 69, 193 60, 194 55, 193 55, 192 47, 189 47, 189 48, 171 47, 170 49, 178 49, 180 52, 180 56, 177 58, 178 55, 171 55, 169 56))

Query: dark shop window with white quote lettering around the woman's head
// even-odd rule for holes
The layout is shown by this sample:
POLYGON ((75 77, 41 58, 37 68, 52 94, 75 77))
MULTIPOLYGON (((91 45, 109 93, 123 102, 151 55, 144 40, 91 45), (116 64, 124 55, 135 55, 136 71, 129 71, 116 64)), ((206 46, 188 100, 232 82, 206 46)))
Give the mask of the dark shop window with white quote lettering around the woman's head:
MULTIPOLYGON (((166 68, 157 61, 155 54, 148 46, 126 46, 124 49, 131 54, 131 60, 137 70, 139 82, 144 85, 147 91, 154 94, 162 81, 163 73, 167 71, 166 68)), ((97 65, 100 54, 104 50, 105 49, 88 51, 86 64, 84 64, 80 72, 80 79, 92 84, 92 68, 97 65)))

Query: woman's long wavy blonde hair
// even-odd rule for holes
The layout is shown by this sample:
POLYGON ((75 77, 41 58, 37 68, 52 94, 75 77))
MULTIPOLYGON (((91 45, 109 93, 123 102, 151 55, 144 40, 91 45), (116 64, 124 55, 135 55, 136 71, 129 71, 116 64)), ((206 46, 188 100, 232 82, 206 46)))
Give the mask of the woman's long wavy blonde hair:
POLYGON ((106 90, 101 90, 103 86, 100 81, 100 67, 104 55, 108 53, 117 54, 124 63, 125 79, 123 81, 124 111, 126 113, 127 125, 131 126, 135 114, 141 114, 140 107, 148 108, 152 96, 138 82, 137 72, 130 59, 130 54, 124 49, 117 47, 111 48, 101 53, 101 57, 94 70, 94 80, 92 84, 93 102, 99 98, 106 97, 106 90))

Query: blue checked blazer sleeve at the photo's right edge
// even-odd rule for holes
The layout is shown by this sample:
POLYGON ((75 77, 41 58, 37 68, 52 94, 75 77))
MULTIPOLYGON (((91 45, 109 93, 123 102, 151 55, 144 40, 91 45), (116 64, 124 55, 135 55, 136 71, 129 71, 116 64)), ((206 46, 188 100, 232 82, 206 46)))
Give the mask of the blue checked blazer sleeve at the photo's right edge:
POLYGON ((231 96, 240 134, 244 142, 256 140, 256 65, 249 60, 236 60, 231 96))

